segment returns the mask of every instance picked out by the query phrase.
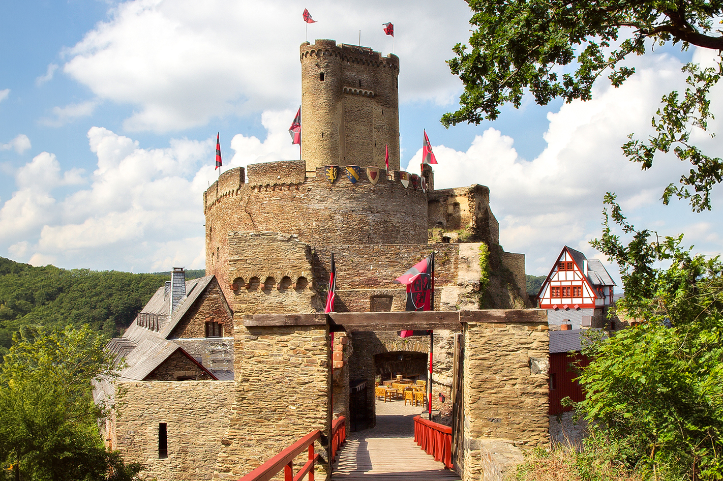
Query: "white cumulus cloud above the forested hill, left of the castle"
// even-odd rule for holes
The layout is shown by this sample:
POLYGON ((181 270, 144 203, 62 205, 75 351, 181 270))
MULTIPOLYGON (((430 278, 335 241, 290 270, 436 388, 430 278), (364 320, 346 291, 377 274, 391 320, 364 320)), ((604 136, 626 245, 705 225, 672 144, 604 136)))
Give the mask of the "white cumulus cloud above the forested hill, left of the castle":
POLYGON ((15 174, 18 190, 0 209, 0 243, 34 265, 122 270, 202 268, 202 193, 215 139, 175 139, 144 149, 102 127, 88 133, 98 158, 90 176, 63 171, 43 152, 15 174), (64 195, 59 187, 87 184, 64 195))

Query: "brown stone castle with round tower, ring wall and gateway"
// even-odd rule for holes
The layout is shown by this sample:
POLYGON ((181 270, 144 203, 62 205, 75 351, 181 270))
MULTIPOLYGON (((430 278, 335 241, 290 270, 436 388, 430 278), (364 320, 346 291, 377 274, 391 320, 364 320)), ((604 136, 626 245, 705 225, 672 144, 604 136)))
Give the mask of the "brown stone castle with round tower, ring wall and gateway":
MULTIPOLYGON (((176 307, 159 290, 158 307, 111 343, 145 369, 131 366, 116 383, 125 407, 106 426, 108 444, 159 481, 236 479, 309 430, 328 430, 333 417, 374 425, 375 379, 427 378, 429 340, 399 338, 390 319, 402 319, 406 303, 406 289, 393 280, 431 252, 434 309, 449 312, 443 322, 417 318, 419 328, 435 329, 433 408, 453 414, 437 393, 454 396, 453 371, 462 372, 455 349, 467 346, 464 359, 484 350, 489 369, 504 368, 514 383, 488 389, 495 381, 482 374, 487 367, 466 375, 480 380, 458 388, 471 400, 464 409, 479 412, 458 416, 482 424, 463 434, 519 446, 546 439, 547 321, 542 311, 524 310, 524 255, 500 247, 489 189, 435 190, 429 165, 421 166, 424 182, 417 174, 403 182, 397 56, 317 40, 301 44, 300 60, 302 160, 230 169, 204 193, 207 277, 187 281, 176 307), (338 168, 335 178, 328 166, 338 168), (361 168, 359 179, 344 174, 347 166, 361 168), (380 169, 377 182, 367 167, 380 169), (328 316, 332 253, 339 314, 328 316), (364 313, 372 317, 358 317, 364 313), (149 315, 156 320, 148 323, 149 315), (140 352, 151 338, 159 347, 140 352), (221 364, 232 373, 219 375, 221 364), (499 393, 483 406, 469 389, 499 393)), ((484 448, 470 446, 458 446, 477 459, 461 469, 464 479, 483 470, 484 448)))

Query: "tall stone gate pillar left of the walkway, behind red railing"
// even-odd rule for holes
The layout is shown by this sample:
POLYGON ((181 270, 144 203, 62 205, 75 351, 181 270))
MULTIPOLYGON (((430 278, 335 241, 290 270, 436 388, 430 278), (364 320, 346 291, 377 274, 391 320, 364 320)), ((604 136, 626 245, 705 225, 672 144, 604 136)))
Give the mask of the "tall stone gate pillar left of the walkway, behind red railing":
MULTIPOLYGON (((237 480, 312 430, 328 434, 331 422, 331 349, 323 315, 317 325, 239 321, 237 315, 234 404, 214 479, 237 480)), ((318 444, 316 449, 324 451, 318 444)), ((323 467, 317 475, 325 476, 323 467)))

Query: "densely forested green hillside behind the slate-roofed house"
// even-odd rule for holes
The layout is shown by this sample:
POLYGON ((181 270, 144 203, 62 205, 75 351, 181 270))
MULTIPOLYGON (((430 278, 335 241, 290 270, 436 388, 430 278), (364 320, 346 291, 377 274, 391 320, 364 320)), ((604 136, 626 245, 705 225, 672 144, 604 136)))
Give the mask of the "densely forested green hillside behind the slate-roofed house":
MULTIPOLYGON (((187 278, 204 271, 187 271, 187 278)), ((0 257, 0 357, 21 325, 89 324, 116 336, 135 318, 167 273, 33 267, 0 257)))

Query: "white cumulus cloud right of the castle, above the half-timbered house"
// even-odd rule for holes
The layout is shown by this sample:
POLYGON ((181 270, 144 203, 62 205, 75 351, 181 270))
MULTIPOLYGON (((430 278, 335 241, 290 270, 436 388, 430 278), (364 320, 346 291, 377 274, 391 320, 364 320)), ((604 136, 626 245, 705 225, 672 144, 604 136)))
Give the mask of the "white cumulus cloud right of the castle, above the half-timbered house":
MULTIPOLYGON (((506 250, 525 252, 528 272, 536 274, 549 271, 552 257, 565 244, 594 257, 588 241, 599 236, 605 192, 616 192, 626 213, 637 214, 641 226, 669 218, 672 207, 662 206, 659 198, 664 186, 676 182, 690 166, 659 156, 652 169, 641 171, 623 156, 620 146, 630 132, 643 140, 651 134, 650 119, 661 95, 683 85, 682 65, 657 55, 636 59, 635 66, 636 75, 620 88, 596 85, 593 100, 549 112, 547 147, 531 161, 520 158, 513 139, 494 128, 477 135, 463 152, 435 146, 435 187, 458 187, 471 179, 487 185, 500 221, 500 242, 506 250)), ((713 97, 720 106, 723 90, 713 97)), ((713 151, 723 148, 717 138, 701 140, 713 151)), ((421 158, 422 149, 410 159, 408 169, 416 171, 421 158)), ((688 242, 699 239, 720 252, 720 239, 708 224, 691 224, 686 230, 685 222, 695 217, 685 202, 681 204, 675 210, 676 216, 680 210, 680 217, 663 223, 675 229, 667 233, 689 231, 688 242)))

